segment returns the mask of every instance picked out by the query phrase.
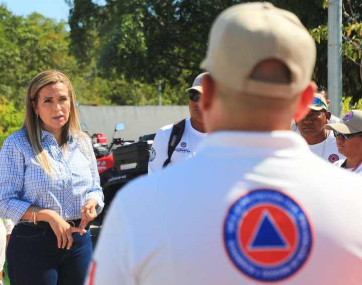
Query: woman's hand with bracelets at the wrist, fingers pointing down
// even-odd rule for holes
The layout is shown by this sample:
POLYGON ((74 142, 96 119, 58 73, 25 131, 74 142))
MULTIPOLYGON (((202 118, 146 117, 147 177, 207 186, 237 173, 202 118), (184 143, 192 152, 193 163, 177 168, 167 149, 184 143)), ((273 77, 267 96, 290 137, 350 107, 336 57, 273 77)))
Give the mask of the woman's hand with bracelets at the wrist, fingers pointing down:
MULTIPOLYGON (((54 212, 54 211, 53 211, 54 212)), ((72 233, 79 233, 80 235, 86 233, 84 229, 80 227, 75 228, 70 226, 58 213, 54 212, 49 219, 50 227, 52 228, 54 234, 57 237, 58 248, 67 248, 73 244, 72 233)))

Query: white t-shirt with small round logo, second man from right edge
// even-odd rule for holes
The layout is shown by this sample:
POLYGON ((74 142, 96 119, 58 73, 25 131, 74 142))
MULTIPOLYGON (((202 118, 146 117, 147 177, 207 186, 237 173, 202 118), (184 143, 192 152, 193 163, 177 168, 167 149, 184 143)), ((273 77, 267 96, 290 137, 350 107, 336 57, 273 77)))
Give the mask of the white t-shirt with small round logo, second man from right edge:
POLYGON ((336 138, 332 131, 328 131, 327 138, 317 144, 310 144, 309 149, 316 155, 322 157, 331 163, 338 161, 339 159, 345 159, 345 156, 338 152, 336 138))

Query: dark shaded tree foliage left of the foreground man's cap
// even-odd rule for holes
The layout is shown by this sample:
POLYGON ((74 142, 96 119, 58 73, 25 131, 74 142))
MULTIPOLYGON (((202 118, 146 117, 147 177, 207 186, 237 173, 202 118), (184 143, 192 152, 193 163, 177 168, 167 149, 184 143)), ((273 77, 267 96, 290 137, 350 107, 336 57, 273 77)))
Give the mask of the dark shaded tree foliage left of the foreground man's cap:
POLYGON ((98 52, 104 76, 115 71, 127 79, 180 86, 201 72, 214 18, 238 2, 128 0, 99 6, 68 1, 72 51, 84 62, 98 52))

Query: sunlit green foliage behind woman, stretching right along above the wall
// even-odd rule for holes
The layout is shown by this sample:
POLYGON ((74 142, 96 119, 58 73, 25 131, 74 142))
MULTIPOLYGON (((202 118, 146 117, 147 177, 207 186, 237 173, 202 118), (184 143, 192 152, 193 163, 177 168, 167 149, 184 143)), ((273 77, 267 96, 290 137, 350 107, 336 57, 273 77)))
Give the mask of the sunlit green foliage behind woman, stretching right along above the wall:
POLYGON ((94 55, 86 63, 71 55, 66 25, 37 13, 14 16, 5 5, 0 5, 1 97, 13 102, 19 110, 24 109, 26 87, 32 77, 55 68, 68 75, 80 104, 154 104, 155 85, 135 80, 130 83, 112 71, 109 77, 100 77, 94 55))

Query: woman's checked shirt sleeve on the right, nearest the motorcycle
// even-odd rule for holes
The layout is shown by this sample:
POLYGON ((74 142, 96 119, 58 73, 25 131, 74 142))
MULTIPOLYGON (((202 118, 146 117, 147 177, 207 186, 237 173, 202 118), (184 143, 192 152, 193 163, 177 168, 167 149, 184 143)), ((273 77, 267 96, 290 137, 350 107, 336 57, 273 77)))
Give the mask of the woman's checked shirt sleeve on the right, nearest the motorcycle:
MULTIPOLYGON (((90 150, 93 150, 92 143, 88 142, 88 146, 90 150)), ((101 187, 100 177, 97 168, 97 160, 96 156, 93 151, 91 151, 91 172, 93 178, 93 186, 92 188, 88 189, 85 194, 85 201, 93 198, 97 201, 98 205, 96 207, 97 215, 101 214, 103 207, 104 207, 104 195, 101 187)))

